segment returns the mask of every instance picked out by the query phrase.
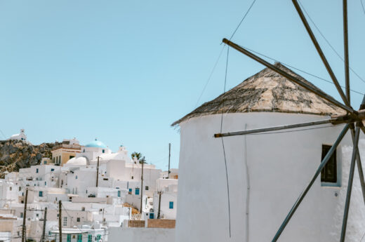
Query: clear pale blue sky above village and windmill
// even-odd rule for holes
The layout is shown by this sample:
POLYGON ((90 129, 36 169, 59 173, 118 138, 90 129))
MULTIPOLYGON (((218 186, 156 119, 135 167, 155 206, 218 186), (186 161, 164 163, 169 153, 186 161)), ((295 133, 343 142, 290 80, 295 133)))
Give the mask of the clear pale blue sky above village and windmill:
MULTIPOLYGON (((10 136, 25 128, 34 144, 98 137, 114 151, 124 144, 142 152, 163 169, 171 142, 171 166, 178 167, 180 135, 170 125, 194 109, 221 39, 251 2, 1 0, 0 130, 10 136)), ((343 55, 342 1, 303 5, 343 55)), ((360 0, 349 1, 349 25, 350 66, 365 78, 360 0)), ((343 62, 314 33, 344 83, 343 62)), ((290 0, 257 0, 232 40, 329 79, 290 0)), ((222 93, 225 55, 199 105, 222 93)), ((260 69, 231 49, 227 88, 260 69)), ((303 76, 340 100, 333 85, 303 76)), ((352 88, 364 93, 365 84, 351 78, 352 88)), ((354 108, 361 98, 352 93, 354 108)))

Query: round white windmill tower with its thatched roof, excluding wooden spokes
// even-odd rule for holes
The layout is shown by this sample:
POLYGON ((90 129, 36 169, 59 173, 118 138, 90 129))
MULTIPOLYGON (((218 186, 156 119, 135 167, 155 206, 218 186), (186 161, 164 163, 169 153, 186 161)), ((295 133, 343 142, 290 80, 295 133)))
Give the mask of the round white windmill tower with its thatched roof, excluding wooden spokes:
MULTIPOLYGON (((213 135, 317 121, 333 114, 343 110, 263 69, 176 121, 180 163, 175 241, 272 241, 343 125, 224 138, 213 135)), ((364 148, 360 140, 362 160, 364 148)), ((339 240, 351 154, 347 134, 279 241, 339 240)), ((346 241, 360 241, 364 233, 359 186, 355 171, 346 241)))

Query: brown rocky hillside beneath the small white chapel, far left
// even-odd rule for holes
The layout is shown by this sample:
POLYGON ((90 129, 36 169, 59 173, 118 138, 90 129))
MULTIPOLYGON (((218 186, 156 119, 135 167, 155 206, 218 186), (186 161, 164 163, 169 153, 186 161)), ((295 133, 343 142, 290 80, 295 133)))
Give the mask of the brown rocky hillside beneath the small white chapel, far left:
POLYGON ((8 172, 18 171, 19 168, 28 168, 37 165, 43 157, 51 158, 51 149, 55 143, 39 145, 27 144, 21 140, 0 140, 0 177, 8 168, 8 172))

